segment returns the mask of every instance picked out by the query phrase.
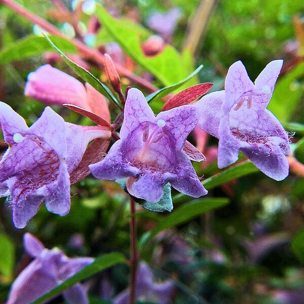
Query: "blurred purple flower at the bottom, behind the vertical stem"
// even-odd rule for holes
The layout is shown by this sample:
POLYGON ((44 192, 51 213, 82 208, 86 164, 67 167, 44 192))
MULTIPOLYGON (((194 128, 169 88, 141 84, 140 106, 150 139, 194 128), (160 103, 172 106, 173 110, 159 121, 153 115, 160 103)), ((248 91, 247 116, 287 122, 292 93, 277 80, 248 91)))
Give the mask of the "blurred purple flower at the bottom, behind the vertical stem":
MULTIPOLYGON (((135 283, 135 299, 142 301, 155 301, 160 304, 168 304, 173 296, 174 284, 171 280, 163 283, 155 283, 153 272, 149 266, 140 262, 137 269, 135 283)), ((114 304, 129 303, 130 290, 120 293, 113 300, 114 304)))

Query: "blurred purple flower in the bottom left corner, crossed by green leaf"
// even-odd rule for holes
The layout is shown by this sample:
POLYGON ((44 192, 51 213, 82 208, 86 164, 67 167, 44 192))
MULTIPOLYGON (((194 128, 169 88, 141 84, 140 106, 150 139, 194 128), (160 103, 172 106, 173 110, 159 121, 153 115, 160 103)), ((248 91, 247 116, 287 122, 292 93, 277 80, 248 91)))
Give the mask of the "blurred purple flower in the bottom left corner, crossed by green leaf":
MULTIPOLYGON (((54 248, 49 250, 27 233, 23 237, 24 249, 33 260, 14 281, 7 304, 28 304, 65 281, 88 264, 93 258, 68 258, 54 248)), ((86 290, 78 283, 66 289, 63 296, 70 304, 89 303, 86 290)))

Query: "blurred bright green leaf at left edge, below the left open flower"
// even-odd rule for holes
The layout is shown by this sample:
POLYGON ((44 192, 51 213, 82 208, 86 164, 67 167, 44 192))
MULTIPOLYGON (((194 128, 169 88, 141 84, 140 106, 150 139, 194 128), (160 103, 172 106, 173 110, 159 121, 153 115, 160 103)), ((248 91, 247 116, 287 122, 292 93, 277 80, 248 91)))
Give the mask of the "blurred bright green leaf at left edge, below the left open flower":
POLYGON ((5 277, 12 277, 15 263, 15 247, 12 240, 4 233, 0 233, 0 273, 5 277))

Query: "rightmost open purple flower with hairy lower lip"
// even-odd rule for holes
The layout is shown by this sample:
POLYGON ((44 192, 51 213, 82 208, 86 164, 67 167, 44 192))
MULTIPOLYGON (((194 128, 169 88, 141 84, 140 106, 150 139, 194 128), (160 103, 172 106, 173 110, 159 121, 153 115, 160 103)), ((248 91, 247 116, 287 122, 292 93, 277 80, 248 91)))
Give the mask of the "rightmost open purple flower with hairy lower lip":
POLYGON ((269 177, 282 180, 288 175, 288 136, 266 108, 282 64, 283 60, 270 62, 253 84, 242 62, 237 61, 229 68, 225 90, 196 103, 198 126, 219 139, 219 168, 236 162, 241 151, 269 177))

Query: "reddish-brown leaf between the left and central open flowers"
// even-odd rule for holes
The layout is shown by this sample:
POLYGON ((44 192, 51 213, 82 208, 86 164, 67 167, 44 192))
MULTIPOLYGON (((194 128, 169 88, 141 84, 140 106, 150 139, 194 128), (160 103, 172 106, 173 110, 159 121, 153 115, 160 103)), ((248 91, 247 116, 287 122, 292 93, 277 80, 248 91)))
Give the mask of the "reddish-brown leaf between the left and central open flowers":
POLYGON ((101 161, 105 157, 109 143, 109 139, 97 138, 88 145, 81 162, 77 168, 70 173, 71 184, 90 174, 88 166, 101 161))

